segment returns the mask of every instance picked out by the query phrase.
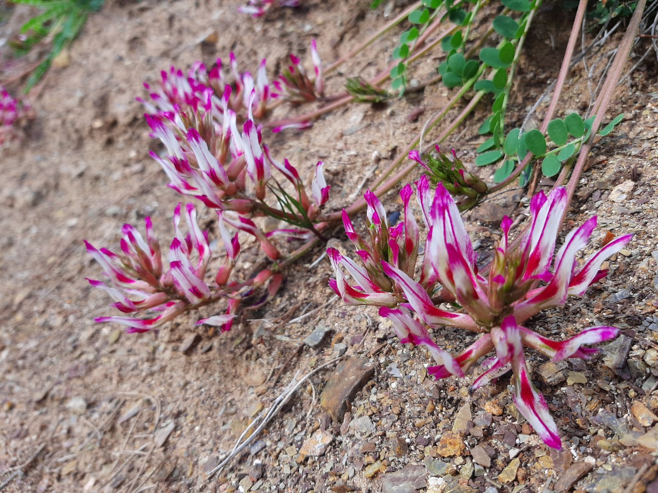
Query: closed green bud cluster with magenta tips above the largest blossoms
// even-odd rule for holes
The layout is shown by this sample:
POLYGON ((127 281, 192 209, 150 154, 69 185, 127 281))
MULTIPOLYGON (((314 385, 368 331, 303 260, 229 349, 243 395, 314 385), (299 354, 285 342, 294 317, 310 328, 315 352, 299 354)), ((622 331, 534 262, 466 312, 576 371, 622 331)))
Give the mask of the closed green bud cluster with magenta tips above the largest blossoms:
POLYGON ((457 207, 459 210, 468 210, 480 201, 488 187, 480 177, 467 171, 454 149, 451 149, 451 153, 452 160, 436 145, 436 157, 430 153, 423 160, 418 151, 409 151, 409 158, 429 172, 428 178, 434 185, 443 183, 450 195, 463 197, 457 202, 457 207))

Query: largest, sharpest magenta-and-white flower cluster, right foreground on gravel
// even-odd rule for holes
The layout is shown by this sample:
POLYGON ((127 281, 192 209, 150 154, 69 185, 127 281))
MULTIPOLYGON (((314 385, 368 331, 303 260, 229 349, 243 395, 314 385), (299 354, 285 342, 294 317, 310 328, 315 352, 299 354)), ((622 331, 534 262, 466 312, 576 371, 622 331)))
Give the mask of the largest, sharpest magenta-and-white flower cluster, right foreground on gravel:
POLYGON ((368 233, 359 236, 345 219, 347 237, 357 248, 361 265, 328 249, 336 279, 330 286, 347 303, 381 306, 380 315, 388 317, 401 342, 427 348, 436 360, 428 373, 436 379, 454 375, 464 377, 470 367, 490 352, 482 373, 475 379, 475 390, 493 379, 513 371, 515 404, 544 442, 561 447, 555 421, 549 414, 544 396, 532 385, 523 348, 528 347, 556 362, 565 358, 590 358, 594 348, 582 347, 613 339, 615 327, 592 327, 566 340, 552 340, 523 324, 541 310, 562 306, 567 296, 582 296, 586 289, 607 271, 600 270, 609 256, 628 244, 632 235, 608 243, 580 267, 576 252, 586 247, 596 217, 571 231, 564 245, 555 252, 561 214, 567 207, 564 188, 548 197, 540 192, 530 202, 530 225, 513 247, 509 232, 512 221, 503 218, 503 235, 495 245, 488 275, 478 270, 477 255, 459 216, 455 200, 442 183, 434 197, 430 180, 422 176, 417 182, 417 200, 428 229, 419 279, 415 279, 418 256, 418 227, 409 211, 411 187, 401 191, 404 222, 390 226, 386 212, 368 193, 368 233), (552 268, 551 268, 552 266, 552 268), (345 276, 351 275, 353 284, 345 276), (443 310, 440 300, 449 300, 458 310, 443 310), (415 316, 412 315, 415 312, 415 316), (480 334, 478 340, 455 356, 439 348, 427 327, 460 327, 480 334))

